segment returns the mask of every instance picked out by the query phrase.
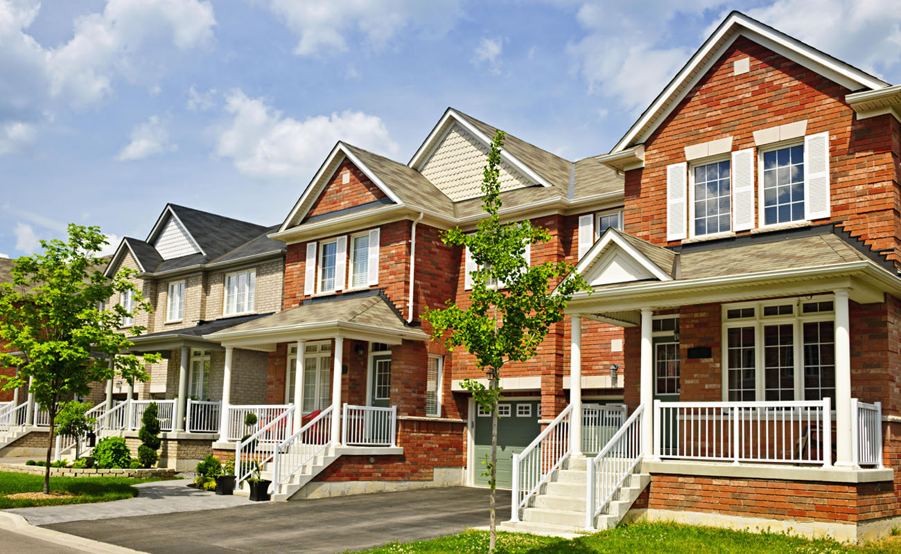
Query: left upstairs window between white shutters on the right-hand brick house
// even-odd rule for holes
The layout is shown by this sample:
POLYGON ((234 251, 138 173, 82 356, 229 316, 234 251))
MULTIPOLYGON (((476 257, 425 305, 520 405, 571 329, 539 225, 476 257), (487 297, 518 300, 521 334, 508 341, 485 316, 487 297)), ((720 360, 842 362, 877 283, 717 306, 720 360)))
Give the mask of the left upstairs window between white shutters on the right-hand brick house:
POLYGON ((730 170, 728 159, 691 169, 695 236, 732 230, 730 170))

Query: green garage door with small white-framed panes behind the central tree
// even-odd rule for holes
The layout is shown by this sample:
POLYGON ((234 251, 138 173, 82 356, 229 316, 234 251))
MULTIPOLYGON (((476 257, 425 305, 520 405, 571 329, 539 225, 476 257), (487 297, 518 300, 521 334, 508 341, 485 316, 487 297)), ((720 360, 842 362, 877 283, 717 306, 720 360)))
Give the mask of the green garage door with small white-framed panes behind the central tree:
MULTIPOLYGON (((498 404, 497 419, 497 486, 513 484, 513 455, 535 440, 542 432, 538 424, 540 402, 537 400, 504 401, 498 404)), ((478 404, 477 404, 478 411, 478 404)), ((491 459, 491 415, 476 413, 475 476, 477 486, 488 486, 486 461, 491 459)))

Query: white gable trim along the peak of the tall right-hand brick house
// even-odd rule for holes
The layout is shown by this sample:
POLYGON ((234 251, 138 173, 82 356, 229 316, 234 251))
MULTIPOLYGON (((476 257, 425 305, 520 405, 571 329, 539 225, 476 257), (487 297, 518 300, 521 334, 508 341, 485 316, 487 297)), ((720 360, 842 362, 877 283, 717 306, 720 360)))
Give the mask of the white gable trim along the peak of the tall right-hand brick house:
MULTIPOLYGON (((801 15, 803 16, 803 15, 801 15)), ((858 68, 835 59, 820 50, 816 50, 789 37, 783 32, 773 29, 769 25, 748 17, 739 12, 729 14, 723 23, 720 23, 716 31, 701 45, 695 55, 688 60, 673 77, 666 88, 654 99, 647 110, 642 113, 638 121, 633 124, 623 138, 616 143, 611 153, 625 150, 635 144, 647 140, 667 115, 687 95, 696 83, 705 76, 708 69, 719 59, 736 38, 744 36, 755 41, 778 54, 792 59, 796 63, 823 75, 834 82, 850 89, 876 90, 888 86, 888 83, 873 77, 858 68)))

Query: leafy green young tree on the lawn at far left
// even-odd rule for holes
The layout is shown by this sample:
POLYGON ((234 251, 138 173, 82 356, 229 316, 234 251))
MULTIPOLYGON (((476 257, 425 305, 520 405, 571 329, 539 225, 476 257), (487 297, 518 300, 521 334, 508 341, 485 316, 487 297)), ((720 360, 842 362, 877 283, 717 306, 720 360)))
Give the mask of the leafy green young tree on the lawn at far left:
MULTIPOLYGON (((73 395, 87 395, 91 383, 115 375, 129 383, 146 381, 144 364, 160 359, 159 354, 120 355, 132 347, 118 331, 123 318, 150 312, 151 306, 129 281, 134 271, 123 269, 107 278, 97 270, 106 264, 97 255, 105 244, 99 227, 70 223, 67 241, 41 241, 43 252, 16 259, 13 282, 0 285, 0 340, 21 352, 21 358, 0 352, 0 366, 22 367, 15 377, 0 376, 0 384, 9 390, 34 377, 29 392, 50 415, 44 493, 50 492, 50 451, 59 404, 73 395), (108 298, 125 291, 134 297, 132 312, 119 304, 102 309, 108 298)), ((134 335, 143 331, 140 325, 129 330, 134 335)))

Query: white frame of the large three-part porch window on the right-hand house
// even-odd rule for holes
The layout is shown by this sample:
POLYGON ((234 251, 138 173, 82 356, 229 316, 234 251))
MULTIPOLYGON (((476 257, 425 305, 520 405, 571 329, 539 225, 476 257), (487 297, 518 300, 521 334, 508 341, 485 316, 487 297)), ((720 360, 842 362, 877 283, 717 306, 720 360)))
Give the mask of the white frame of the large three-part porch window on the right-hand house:
POLYGON ((793 325, 793 344, 794 344, 794 364, 795 364, 795 400, 804 400, 804 336, 803 324, 806 322, 835 322, 834 304, 835 295, 814 295, 794 296, 788 298, 780 298, 778 300, 765 300, 759 302, 740 302, 734 304, 723 304, 722 307, 722 334, 720 338, 720 350, 722 357, 722 389, 723 401, 729 401, 729 349, 728 330, 735 327, 753 327, 754 328, 754 398, 755 402, 765 399, 764 386, 764 369, 763 369, 763 327, 766 325, 792 323, 793 325), (809 302, 832 301, 833 312, 817 312, 804 314, 802 312, 803 304, 809 302), (795 306, 791 315, 763 315, 763 308, 770 305, 793 304, 795 306), (735 308, 754 307, 754 317, 746 317, 742 319, 727 319, 728 310, 735 308))

